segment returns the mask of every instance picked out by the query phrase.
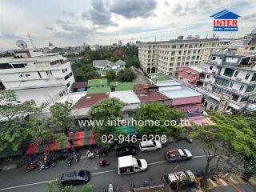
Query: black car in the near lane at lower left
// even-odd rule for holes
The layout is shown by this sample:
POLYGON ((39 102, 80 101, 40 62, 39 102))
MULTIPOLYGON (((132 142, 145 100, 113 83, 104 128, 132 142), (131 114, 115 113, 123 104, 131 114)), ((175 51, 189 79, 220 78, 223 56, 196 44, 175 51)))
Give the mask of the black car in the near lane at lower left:
POLYGON ((90 172, 88 170, 71 171, 62 174, 61 182, 63 186, 86 184, 90 181, 90 172))

